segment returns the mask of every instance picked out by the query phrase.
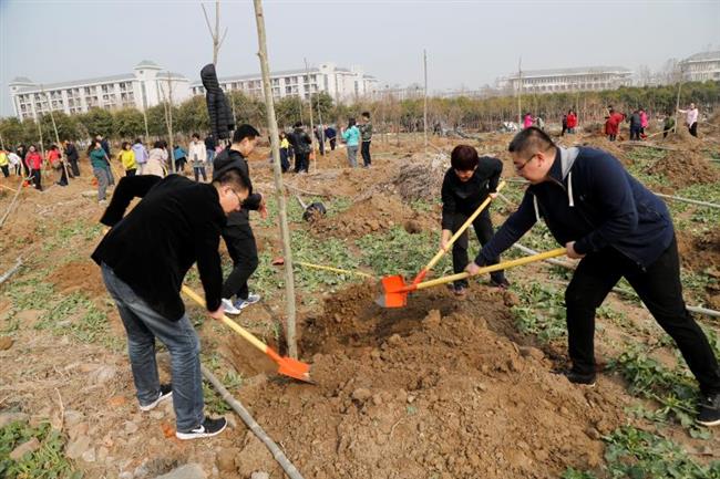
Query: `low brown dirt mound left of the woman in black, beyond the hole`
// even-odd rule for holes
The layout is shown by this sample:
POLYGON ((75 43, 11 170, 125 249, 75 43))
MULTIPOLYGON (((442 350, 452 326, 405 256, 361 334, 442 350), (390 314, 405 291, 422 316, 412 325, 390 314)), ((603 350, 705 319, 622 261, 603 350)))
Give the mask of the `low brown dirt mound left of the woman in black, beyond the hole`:
POLYGON ((310 229, 319 236, 358 238, 388 230, 397 225, 402 225, 409 232, 418 232, 426 222, 425 218, 415 214, 397 197, 376 194, 337 216, 310 222, 310 229))

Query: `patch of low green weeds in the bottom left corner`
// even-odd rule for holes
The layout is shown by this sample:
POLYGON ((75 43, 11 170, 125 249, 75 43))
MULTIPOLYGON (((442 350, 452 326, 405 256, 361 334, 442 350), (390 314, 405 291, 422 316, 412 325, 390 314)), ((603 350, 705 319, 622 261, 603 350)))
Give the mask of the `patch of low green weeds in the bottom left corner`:
POLYGON ((28 423, 14 421, 0 429, 0 477, 7 479, 81 479, 82 472, 74 471, 73 464, 64 452, 63 438, 56 429, 43 423, 32 427, 28 423), (25 454, 19 460, 10 459, 10 452, 37 438, 40 448, 25 454))

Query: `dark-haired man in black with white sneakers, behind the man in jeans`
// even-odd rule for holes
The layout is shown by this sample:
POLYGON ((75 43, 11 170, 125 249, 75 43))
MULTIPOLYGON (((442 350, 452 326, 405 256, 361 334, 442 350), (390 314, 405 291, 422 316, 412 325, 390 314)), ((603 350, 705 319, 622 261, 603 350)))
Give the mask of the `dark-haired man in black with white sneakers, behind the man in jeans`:
MULTIPOLYGON (((250 173, 245 158, 255 149, 259 136, 258 131, 250 125, 238 126, 233 135, 233 144, 215 157, 213 168, 216 171, 222 171, 223 168, 233 165, 241 170, 249 180, 250 173)), ((215 175, 213 177, 215 178, 215 175)), ((250 189, 253 189, 251 184, 250 189)), ((228 215, 227 225, 223 228, 223 239, 233 260, 233 271, 223 284, 223 305, 225 312, 229 314, 239 314, 244 308, 260 301, 260 295, 251 293, 247 285, 247 280, 258 265, 257 246, 253 228, 250 228, 249 210, 258 211, 263 218, 267 217, 263 195, 250 194, 243 201, 243 208, 239 211, 228 215), (233 302, 233 296, 236 296, 235 302, 233 302)))

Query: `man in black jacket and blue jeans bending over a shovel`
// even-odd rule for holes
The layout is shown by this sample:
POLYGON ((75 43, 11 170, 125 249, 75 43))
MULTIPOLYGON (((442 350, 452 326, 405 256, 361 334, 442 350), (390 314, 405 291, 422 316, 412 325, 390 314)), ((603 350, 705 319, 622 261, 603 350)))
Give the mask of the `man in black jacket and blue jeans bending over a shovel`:
POLYGON ((172 397, 179 439, 215 436, 226 426, 224 418, 204 415, 200 345, 179 291, 197 262, 209 315, 222 319, 220 230, 248 188, 245 175, 234 167, 218 171, 212 184, 179 175, 124 177, 101 219, 112 229, 92 259, 127 332, 140 408, 151 410, 172 397), (135 197, 143 199, 123 218, 135 197), (155 339, 169 351, 172 385, 160 384, 155 339))

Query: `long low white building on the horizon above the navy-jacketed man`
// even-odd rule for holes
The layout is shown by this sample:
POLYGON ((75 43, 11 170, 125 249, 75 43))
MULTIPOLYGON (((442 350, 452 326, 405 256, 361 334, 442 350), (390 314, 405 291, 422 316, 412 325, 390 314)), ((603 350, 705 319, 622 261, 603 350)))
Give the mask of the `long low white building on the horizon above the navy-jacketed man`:
POLYGON ((615 90, 632 84, 632 72, 621 66, 585 66, 556 70, 528 70, 497 80, 502 90, 517 91, 521 79, 526 93, 615 90))

